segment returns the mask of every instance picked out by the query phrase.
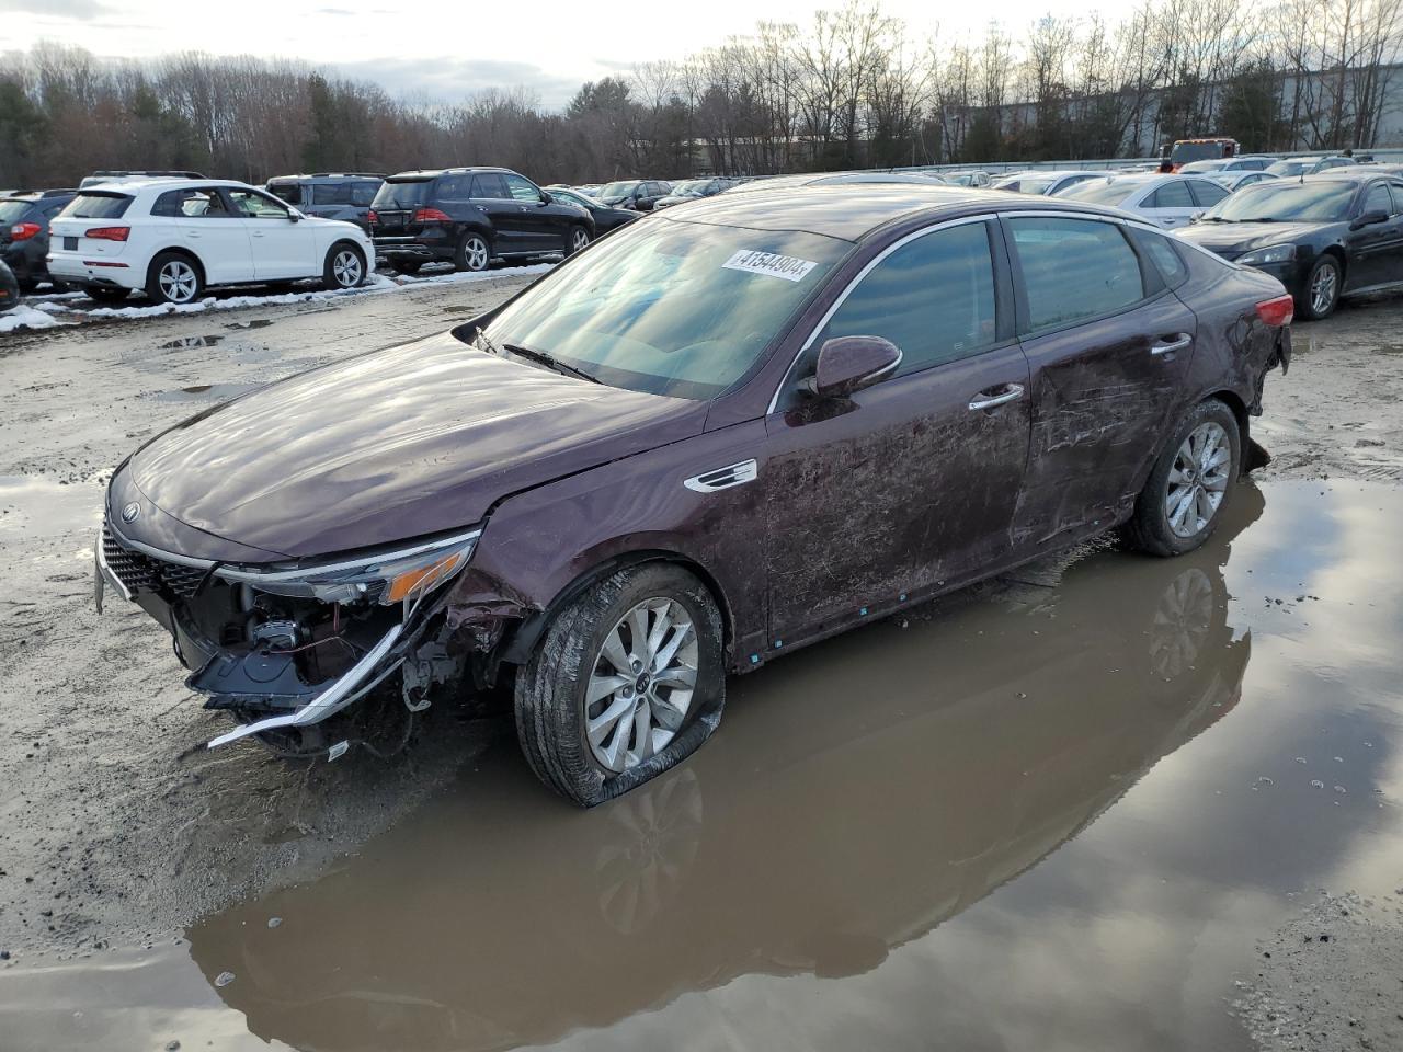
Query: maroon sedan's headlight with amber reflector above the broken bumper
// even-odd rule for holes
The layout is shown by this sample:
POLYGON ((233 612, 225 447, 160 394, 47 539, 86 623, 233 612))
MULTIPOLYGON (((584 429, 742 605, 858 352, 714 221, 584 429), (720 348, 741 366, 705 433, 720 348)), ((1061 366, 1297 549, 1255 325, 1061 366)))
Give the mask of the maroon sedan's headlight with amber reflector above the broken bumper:
POLYGON ((481 533, 471 530, 438 541, 295 569, 220 567, 215 574, 272 595, 320 599, 324 603, 375 602, 391 606, 427 595, 467 565, 481 533))

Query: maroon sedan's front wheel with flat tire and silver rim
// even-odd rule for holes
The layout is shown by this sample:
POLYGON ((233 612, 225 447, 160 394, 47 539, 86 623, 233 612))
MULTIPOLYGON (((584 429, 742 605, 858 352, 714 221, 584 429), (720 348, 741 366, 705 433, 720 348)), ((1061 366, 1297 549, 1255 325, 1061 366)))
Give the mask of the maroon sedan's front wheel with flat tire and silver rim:
POLYGON ((516 734, 543 783, 595 807, 675 766, 725 704, 721 614, 680 567, 620 569, 567 603, 516 676, 516 734))

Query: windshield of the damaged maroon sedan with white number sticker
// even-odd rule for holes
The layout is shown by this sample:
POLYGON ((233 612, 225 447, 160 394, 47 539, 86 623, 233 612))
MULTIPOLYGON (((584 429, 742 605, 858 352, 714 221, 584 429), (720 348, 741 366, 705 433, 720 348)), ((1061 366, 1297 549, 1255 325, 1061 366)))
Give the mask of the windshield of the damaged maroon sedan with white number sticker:
POLYGON ((615 387, 713 398, 745 376, 850 248, 818 234, 659 216, 543 278, 487 335, 615 387))

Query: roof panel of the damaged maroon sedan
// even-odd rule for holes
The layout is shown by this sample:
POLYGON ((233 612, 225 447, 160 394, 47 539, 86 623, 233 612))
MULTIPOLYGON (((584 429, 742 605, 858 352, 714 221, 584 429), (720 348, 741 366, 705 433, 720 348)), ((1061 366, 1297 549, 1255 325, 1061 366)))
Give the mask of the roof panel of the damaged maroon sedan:
POLYGON ((657 219, 801 231, 843 241, 860 241, 880 227, 902 219, 922 217, 939 222, 981 212, 1048 209, 1125 219, 1122 212, 1075 201, 1026 198, 1006 191, 971 189, 940 182, 784 185, 749 194, 717 194, 686 205, 673 205, 657 219))

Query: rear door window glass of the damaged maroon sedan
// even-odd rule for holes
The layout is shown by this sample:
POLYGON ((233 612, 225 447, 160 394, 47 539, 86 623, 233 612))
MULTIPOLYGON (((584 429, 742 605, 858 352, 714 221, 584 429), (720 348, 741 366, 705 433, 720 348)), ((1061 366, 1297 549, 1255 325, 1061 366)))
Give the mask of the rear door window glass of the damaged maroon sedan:
POLYGON ((1031 331, 1073 325, 1145 299, 1139 259, 1117 224, 1028 216, 1007 226, 1031 331))

